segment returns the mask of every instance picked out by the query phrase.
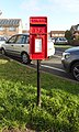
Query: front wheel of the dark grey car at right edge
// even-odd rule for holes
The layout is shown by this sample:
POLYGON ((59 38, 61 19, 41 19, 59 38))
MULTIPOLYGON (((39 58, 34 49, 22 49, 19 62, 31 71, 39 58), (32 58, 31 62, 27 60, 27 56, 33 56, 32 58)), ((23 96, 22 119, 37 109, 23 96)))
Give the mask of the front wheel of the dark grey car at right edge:
POLYGON ((72 76, 79 81, 79 62, 75 63, 71 68, 72 76))

